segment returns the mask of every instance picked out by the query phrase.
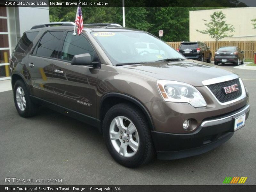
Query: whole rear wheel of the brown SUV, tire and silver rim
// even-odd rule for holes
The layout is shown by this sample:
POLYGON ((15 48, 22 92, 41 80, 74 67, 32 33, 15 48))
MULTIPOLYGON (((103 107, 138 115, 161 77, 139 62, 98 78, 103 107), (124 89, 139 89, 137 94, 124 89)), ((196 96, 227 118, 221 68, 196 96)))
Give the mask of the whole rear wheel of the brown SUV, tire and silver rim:
POLYGON ((28 89, 23 81, 18 80, 13 88, 13 98, 15 107, 22 117, 30 117, 36 115, 37 106, 32 103, 28 89))

